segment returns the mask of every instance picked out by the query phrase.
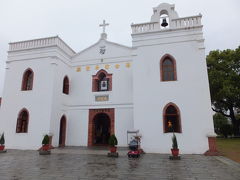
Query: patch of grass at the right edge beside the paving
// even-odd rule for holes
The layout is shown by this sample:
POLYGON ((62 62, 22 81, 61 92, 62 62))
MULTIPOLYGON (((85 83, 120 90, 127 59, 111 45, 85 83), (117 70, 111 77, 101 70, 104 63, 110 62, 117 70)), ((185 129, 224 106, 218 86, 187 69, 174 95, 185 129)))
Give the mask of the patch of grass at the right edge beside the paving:
POLYGON ((217 149, 220 155, 240 163, 240 138, 217 138, 217 149))

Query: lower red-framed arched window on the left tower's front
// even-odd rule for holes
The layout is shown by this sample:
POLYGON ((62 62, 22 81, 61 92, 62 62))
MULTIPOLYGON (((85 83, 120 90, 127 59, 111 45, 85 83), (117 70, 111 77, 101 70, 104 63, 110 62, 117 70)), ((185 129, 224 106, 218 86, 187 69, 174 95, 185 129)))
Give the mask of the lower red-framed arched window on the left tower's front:
POLYGON ((18 114, 16 133, 27 133, 28 121, 29 121, 29 113, 27 109, 24 108, 18 114))

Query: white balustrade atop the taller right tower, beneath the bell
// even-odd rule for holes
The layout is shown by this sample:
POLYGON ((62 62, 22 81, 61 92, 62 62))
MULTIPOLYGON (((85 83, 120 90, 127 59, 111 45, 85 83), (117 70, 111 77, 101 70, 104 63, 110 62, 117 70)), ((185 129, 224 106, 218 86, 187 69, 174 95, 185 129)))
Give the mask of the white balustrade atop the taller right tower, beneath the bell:
POLYGON ((165 31, 167 29, 192 28, 201 26, 202 15, 172 19, 168 28, 161 28, 159 22, 132 24, 132 34, 165 31))

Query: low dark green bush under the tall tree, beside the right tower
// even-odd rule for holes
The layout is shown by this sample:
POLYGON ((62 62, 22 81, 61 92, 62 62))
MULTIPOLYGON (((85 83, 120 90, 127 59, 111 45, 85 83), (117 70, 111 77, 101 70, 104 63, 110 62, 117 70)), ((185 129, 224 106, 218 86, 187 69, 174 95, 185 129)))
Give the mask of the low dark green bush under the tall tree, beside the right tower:
POLYGON ((223 116, 220 113, 216 113, 213 115, 214 122, 214 130, 218 135, 223 135, 224 137, 228 137, 228 135, 232 135, 232 125, 229 124, 228 118, 223 116))

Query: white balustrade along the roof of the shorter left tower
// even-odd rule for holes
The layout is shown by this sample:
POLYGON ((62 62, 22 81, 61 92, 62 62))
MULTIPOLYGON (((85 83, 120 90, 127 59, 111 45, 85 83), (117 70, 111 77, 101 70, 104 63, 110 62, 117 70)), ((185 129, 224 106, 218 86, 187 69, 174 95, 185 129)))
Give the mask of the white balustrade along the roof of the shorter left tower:
POLYGON ((18 51, 49 46, 58 46, 70 56, 75 54, 75 52, 58 36, 9 43, 9 51, 18 51))

